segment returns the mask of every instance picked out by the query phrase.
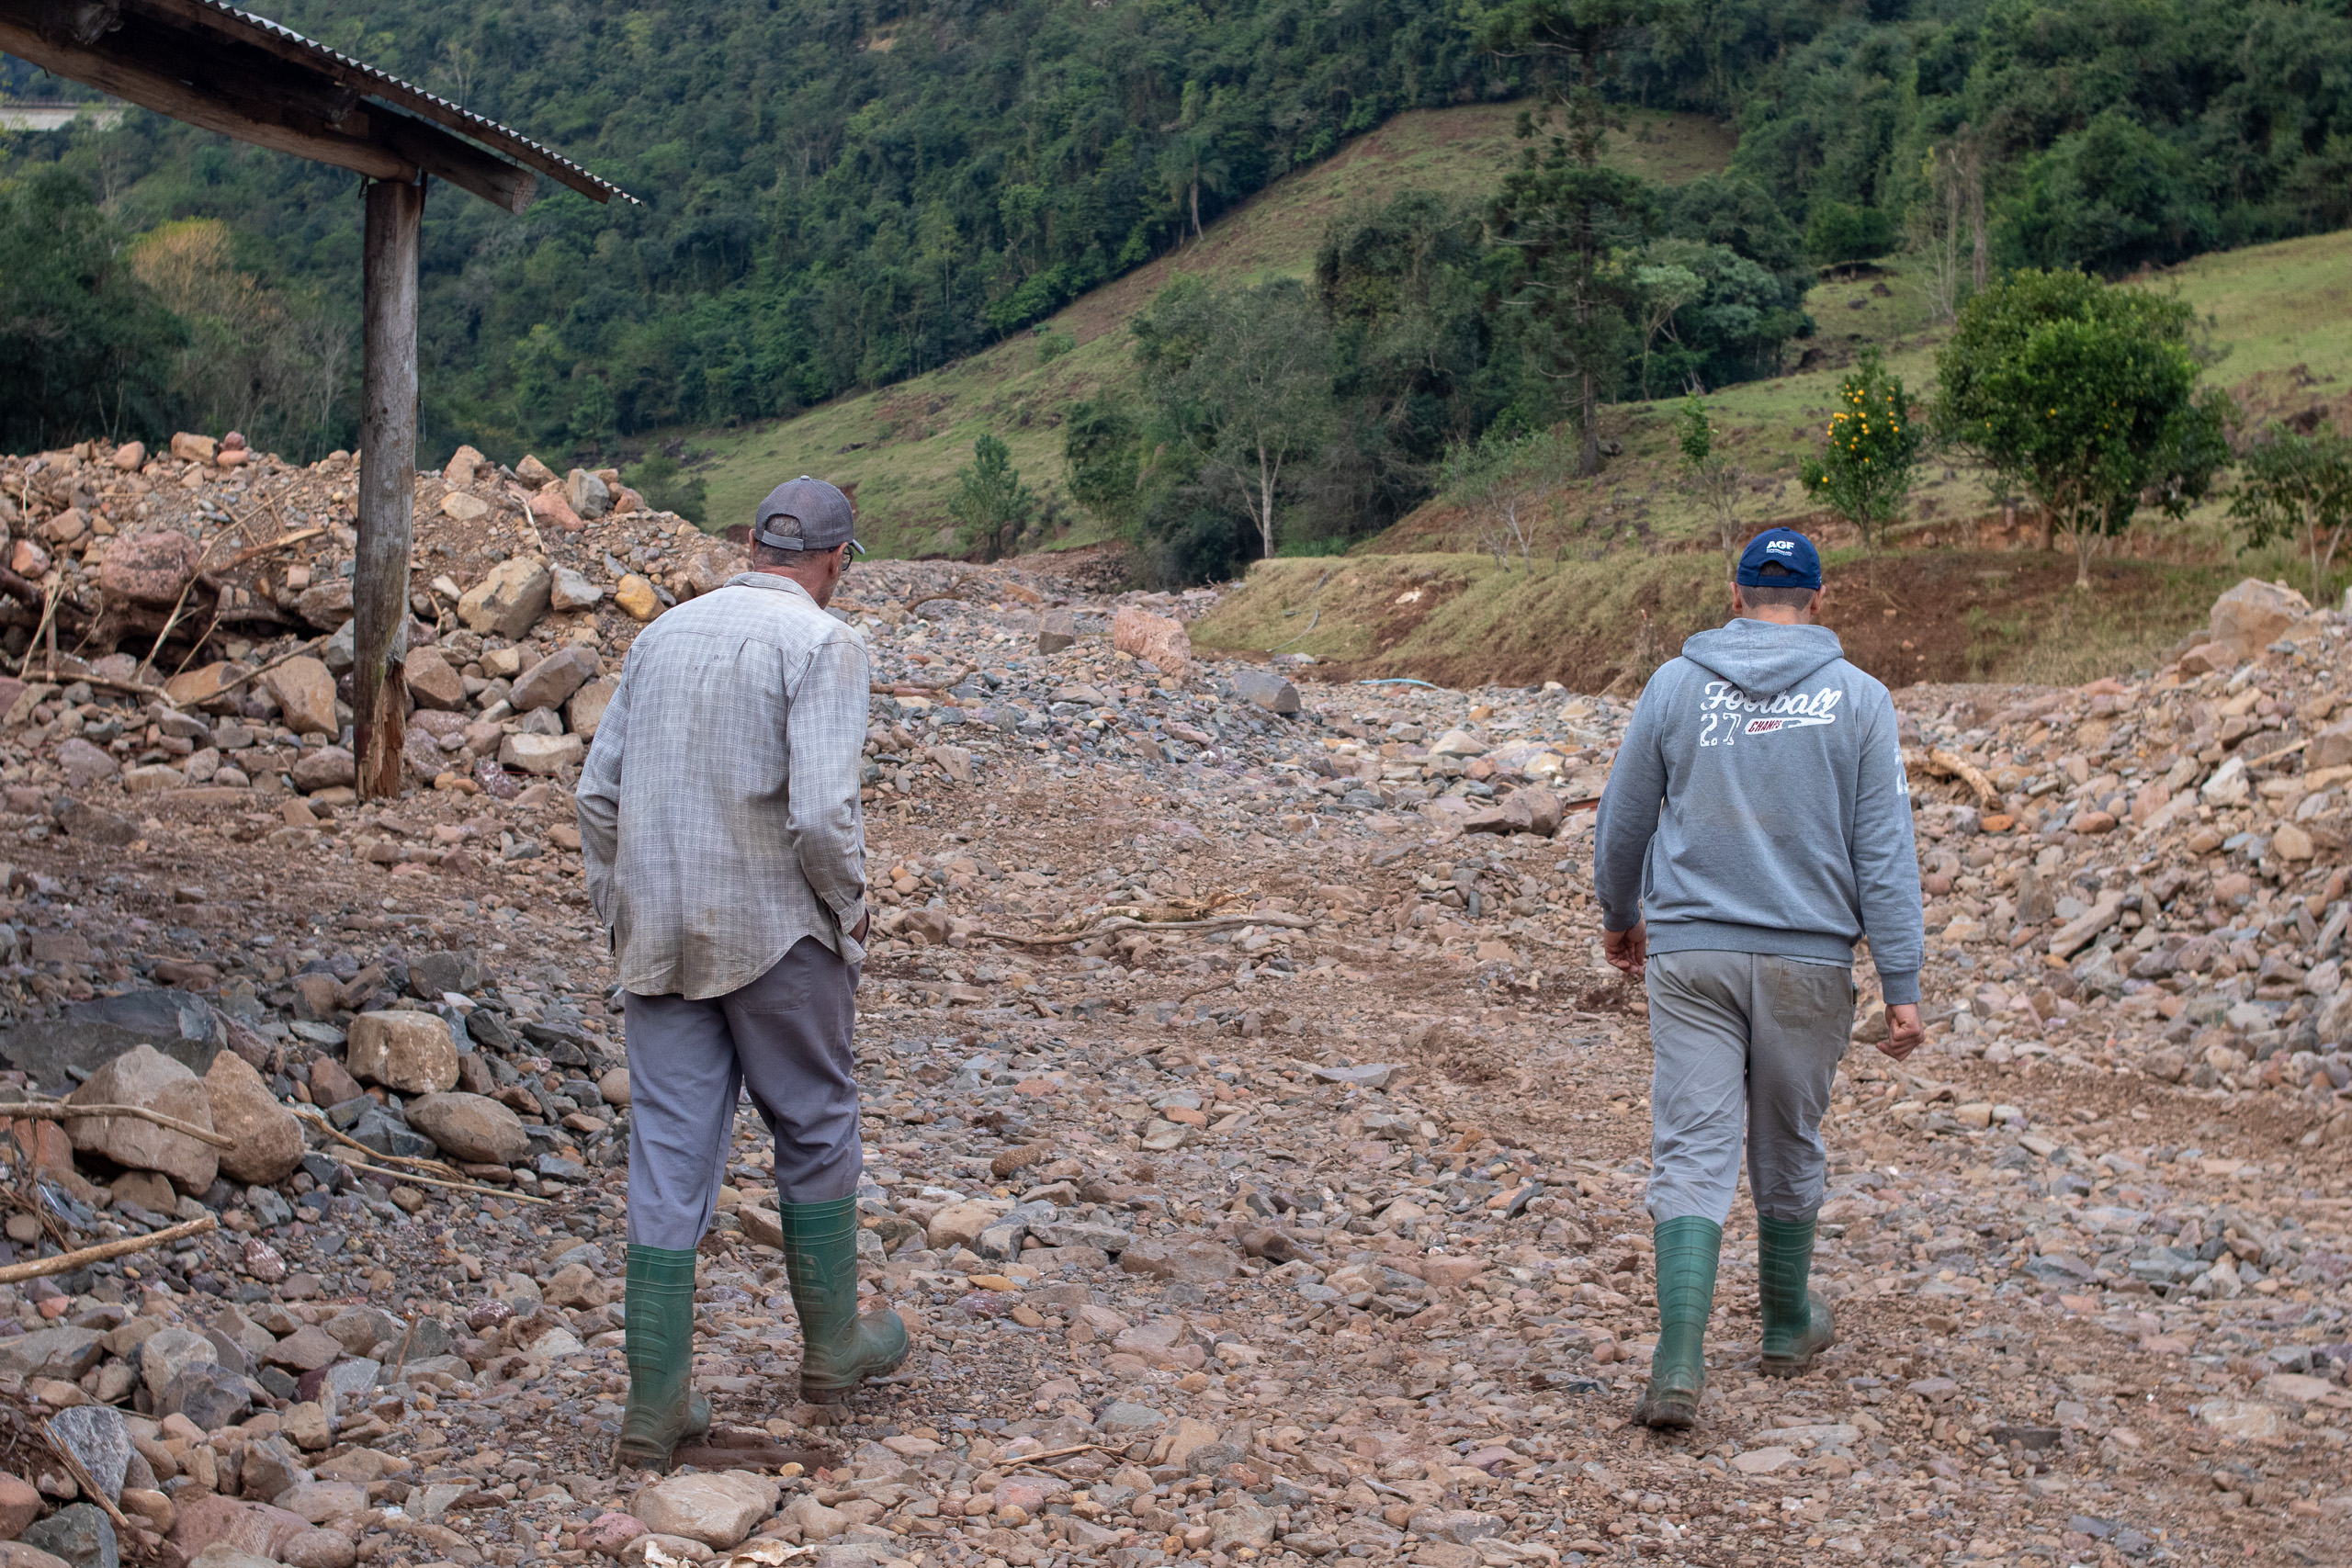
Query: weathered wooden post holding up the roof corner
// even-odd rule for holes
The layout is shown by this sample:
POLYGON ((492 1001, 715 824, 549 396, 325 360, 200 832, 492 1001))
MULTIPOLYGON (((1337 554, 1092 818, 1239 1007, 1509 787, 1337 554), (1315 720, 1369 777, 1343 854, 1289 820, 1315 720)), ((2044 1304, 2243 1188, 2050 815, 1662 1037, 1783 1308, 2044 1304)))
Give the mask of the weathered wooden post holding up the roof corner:
POLYGON ((360 367, 360 552, 350 574, 350 712, 360 795, 400 795, 409 616, 409 524, 416 501, 416 230, 423 183, 367 183, 360 367))

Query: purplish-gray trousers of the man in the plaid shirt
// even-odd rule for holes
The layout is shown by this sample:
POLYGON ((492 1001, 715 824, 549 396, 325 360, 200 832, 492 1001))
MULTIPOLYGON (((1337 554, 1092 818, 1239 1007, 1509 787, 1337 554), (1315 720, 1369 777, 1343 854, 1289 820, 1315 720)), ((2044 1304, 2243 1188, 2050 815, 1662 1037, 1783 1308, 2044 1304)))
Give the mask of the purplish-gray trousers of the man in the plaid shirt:
POLYGON ((691 1251, 710 1229, 736 1093, 776 1135, 776 1197, 826 1204, 858 1187, 858 966, 804 936, 724 997, 626 994, 628 1239, 691 1251))

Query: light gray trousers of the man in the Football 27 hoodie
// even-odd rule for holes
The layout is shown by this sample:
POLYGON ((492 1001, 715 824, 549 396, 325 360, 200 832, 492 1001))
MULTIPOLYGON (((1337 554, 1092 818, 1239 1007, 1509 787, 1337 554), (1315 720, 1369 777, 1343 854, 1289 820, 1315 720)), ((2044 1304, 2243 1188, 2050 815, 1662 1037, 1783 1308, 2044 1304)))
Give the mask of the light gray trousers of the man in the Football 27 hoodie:
POLYGON ((1853 973, 1755 952, 1649 959, 1649 1213, 1717 1225, 1740 1185, 1766 1220, 1820 1208, 1820 1114, 1853 1032, 1853 973))

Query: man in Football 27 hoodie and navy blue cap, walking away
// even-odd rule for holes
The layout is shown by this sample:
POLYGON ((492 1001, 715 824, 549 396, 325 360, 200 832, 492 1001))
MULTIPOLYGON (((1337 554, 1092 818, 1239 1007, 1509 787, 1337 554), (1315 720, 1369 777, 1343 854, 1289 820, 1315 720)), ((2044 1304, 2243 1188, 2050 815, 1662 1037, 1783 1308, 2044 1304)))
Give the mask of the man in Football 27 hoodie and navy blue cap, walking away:
POLYGON ((1658 1347, 1635 1418, 1651 1427, 1698 1420, 1743 1131, 1762 1371, 1792 1378, 1837 1340, 1809 1276, 1856 938, 1870 938, 1886 994, 1879 1051, 1900 1060, 1924 1037, 1896 710, 1818 611, 1813 543, 1792 529, 1750 541, 1731 625, 1691 637, 1649 679, 1602 795, 1602 945, 1649 990, 1658 1347))

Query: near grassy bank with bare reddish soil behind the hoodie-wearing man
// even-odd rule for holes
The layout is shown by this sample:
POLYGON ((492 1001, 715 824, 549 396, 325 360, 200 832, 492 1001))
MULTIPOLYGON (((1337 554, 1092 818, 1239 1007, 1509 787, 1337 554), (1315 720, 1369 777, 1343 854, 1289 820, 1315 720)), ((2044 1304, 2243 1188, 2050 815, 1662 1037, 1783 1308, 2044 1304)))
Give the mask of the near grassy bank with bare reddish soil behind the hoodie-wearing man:
MULTIPOLYGON (((2321 404, 2352 428, 2352 233, 2206 256, 2150 287, 2178 289, 2206 317, 2209 350, 2218 355, 2209 374, 2249 421, 2321 404)), ((1717 425, 1757 475, 1743 510, 1750 527, 1818 527, 1797 501, 1797 463, 1818 442, 1837 378, 1860 346, 1879 343, 1912 388, 1933 386, 1940 331, 1929 329, 1924 299, 1900 268, 1823 284, 1811 310, 1820 322, 1811 348, 1823 364, 1710 400, 1717 425)), ((1331 581, 1329 562, 1261 562, 1249 588, 1228 595, 1192 637, 1237 651, 1291 646, 1338 661, 1343 675, 1604 686, 1639 665, 1644 649, 1663 656, 1722 618, 1722 557, 1712 522, 1675 487, 1670 411, 1609 411, 1625 454, 1599 482, 1555 496, 1536 529, 1531 574, 1503 574, 1472 555, 1461 512, 1432 503, 1362 545, 1331 581), (1414 585, 1423 597, 1397 604, 1414 585)), ((2065 550, 1952 548, 1976 543, 1955 522, 1990 520, 1987 503, 1966 468, 1931 463, 1915 494, 1924 527, 1910 529, 1905 543, 1945 548, 1912 548, 1877 564, 1844 557, 1830 621, 1865 668, 1891 682, 2089 679, 2157 658, 2204 623, 2220 588, 2249 571, 2307 590, 2307 574, 2284 552, 2230 559, 2218 548, 2218 508, 2209 505, 2159 541, 2164 559, 2100 562, 2098 592, 2074 595, 2065 550)), ((2326 597, 2343 590, 2345 576, 2352 571, 2338 571, 2326 597)))

